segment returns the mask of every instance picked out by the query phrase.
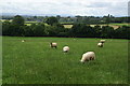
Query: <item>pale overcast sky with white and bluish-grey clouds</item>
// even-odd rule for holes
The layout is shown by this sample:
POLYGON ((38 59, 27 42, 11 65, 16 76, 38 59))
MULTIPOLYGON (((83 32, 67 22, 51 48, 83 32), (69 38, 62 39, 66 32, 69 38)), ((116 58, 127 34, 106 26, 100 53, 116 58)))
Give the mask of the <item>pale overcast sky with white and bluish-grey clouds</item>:
POLYGON ((0 13, 127 16, 128 2, 129 0, 2 0, 0 13))

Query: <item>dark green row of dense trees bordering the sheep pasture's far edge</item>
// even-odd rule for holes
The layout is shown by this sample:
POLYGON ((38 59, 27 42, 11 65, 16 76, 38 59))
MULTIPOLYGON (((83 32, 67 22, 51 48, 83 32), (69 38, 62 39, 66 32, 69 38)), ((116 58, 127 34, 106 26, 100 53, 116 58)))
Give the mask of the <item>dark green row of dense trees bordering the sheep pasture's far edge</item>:
POLYGON ((94 26, 75 23, 70 29, 64 28, 56 17, 48 17, 43 23, 25 25, 25 19, 16 15, 12 22, 2 23, 2 35, 11 37, 67 37, 67 38, 106 38, 130 39, 130 27, 122 26, 114 29, 109 26, 94 26))

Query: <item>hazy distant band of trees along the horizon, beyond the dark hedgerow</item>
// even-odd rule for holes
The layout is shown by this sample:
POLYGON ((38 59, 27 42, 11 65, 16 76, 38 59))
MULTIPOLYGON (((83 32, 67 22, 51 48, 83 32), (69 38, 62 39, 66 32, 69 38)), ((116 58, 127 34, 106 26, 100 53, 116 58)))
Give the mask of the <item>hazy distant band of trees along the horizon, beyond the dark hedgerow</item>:
MULTIPOLYGON (((2 19, 13 19, 14 16, 2 16, 2 19)), ((23 16, 26 22, 46 22, 50 16, 23 16)), ((109 24, 109 23, 130 23, 129 16, 115 17, 110 14, 105 16, 55 16, 62 24, 109 24)))

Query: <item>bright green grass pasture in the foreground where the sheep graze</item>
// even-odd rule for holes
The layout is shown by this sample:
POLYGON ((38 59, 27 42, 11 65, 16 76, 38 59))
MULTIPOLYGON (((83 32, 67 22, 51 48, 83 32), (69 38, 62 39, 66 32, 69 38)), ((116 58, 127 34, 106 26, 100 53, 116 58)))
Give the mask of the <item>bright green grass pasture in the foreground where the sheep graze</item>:
POLYGON ((128 40, 16 38, 3 37, 3 84, 127 84, 128 40), (26 42, 22 43, 22 40, 26 42), (58 47, 50 48, 50 42, 58 47), (68 54, 62 47, 69 45, 68 54), (95 52, 96 59, 79 60, 84 52, 95 52))

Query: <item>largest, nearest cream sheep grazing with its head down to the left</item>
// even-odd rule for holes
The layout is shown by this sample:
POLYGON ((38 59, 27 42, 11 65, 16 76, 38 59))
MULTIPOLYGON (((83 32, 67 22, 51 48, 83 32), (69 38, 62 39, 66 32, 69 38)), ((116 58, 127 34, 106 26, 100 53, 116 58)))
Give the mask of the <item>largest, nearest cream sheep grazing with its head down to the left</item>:
POLYGON ((94 59, 95 59, 94 52, 87 52, 82 55, 80 62, 86 62, 86 61, 94 60, 94 59))

